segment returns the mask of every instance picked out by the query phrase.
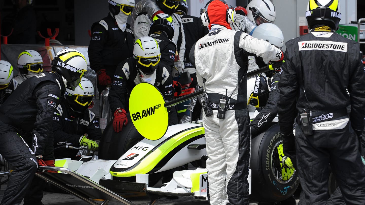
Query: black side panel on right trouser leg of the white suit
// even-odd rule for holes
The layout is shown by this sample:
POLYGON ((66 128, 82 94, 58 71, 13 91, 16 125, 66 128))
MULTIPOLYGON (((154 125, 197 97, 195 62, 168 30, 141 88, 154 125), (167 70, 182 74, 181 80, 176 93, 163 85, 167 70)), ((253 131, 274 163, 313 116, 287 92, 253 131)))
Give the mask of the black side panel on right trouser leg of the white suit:
MULTIPOLYGON (((245 109, 247 111, 247 109, 245 109)), ((227 196, 229 204, 249 204, 249 184, 247 177, 250 169, 250 119, 242 115, 243 110, 235 111, 235 119, 238 124, 238 161, 236 171, 227 184, 227 196)))

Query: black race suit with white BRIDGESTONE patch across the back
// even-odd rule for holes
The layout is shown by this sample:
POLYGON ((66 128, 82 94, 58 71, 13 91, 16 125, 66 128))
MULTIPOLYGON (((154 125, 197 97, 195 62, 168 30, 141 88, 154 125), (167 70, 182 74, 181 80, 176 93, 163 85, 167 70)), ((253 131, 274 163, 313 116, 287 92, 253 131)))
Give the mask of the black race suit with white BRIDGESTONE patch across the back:
POLYGON ((359 44, 324 26, 315 29, 285 43, 285 63, 278 84, 280 131, 288 136, 295 117, 304 109, 312 111, 313 134, 303 134, 300 117, 295 132, 296 170, 306 204, 326 204, 328 163, 346 203, 365 204, 365 169, 354 132, 362 131, 365 117, 365 76, 359 44))

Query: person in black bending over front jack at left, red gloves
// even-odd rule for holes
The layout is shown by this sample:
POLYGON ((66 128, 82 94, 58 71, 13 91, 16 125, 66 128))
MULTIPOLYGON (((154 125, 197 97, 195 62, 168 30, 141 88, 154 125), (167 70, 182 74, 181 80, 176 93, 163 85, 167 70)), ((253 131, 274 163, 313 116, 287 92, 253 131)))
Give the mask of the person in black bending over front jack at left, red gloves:
POLYGON ((53 112, 65 87, 74 89, 86 69, 81 53, 62 49, 52 61, 52 72, 39 73, 24 81, 1 105, 0 154, 16 167, 2 205, 20 204, 38 166, 54 166, 53 112), (68 69, 71 66, 76 72, 68 69), (31 147, 21 137, 26 135, 32 137, 31 147))

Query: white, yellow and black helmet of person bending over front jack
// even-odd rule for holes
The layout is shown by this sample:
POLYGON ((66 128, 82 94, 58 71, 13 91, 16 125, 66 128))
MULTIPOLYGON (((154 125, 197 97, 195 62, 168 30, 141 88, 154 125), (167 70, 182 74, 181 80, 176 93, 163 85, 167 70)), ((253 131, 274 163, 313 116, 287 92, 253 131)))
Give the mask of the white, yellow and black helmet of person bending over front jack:
POLYGON ((62 49, 52 60, 52 71, 60 74, 67 81, 67 88, 75 90, 87 71, 84 55, 75 49, 62 49))

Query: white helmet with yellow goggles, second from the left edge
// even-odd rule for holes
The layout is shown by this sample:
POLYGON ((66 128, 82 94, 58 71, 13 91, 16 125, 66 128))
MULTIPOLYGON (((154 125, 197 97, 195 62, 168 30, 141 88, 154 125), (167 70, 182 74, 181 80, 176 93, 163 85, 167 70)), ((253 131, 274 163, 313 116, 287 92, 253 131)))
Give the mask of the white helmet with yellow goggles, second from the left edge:
POLYGON ((20 74, 42 73, 43 59, 35 50, 25 50, 18 56, 20 74))

